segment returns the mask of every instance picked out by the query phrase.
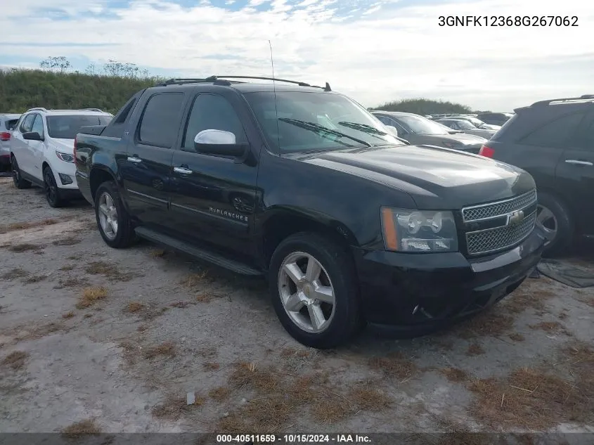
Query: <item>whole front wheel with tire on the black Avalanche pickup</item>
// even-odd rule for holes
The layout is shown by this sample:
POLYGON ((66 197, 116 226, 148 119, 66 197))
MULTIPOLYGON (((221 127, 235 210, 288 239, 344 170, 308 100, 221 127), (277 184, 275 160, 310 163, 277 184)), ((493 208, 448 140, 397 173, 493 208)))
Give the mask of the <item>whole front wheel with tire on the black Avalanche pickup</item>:
POLYGON ((314 233, 297 233, 273 253, 269 288, 276 315, 298 342, 330 349, 361 328, 359 285, 344 247, 314 233))

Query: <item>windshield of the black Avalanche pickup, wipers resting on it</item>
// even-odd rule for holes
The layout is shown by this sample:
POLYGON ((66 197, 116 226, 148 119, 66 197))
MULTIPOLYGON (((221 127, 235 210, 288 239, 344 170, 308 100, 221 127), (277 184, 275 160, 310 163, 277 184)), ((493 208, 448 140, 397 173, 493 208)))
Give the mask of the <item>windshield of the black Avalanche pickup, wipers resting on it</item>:
POLYGON ((339 94, 245 93, 269 145, 280 153, 403 145, 361 105, 339 94))

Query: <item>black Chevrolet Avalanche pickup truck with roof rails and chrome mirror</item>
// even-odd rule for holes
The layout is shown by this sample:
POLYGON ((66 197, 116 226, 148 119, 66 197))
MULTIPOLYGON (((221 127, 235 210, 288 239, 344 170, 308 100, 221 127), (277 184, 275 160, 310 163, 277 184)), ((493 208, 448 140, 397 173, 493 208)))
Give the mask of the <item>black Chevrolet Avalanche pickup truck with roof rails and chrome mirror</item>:
POLYGON ((538 263, 522 169, 408 146, 328 84, 238 77, 144 89, 77 135, 105 243, 140 236, 266 276, 280 322, 317 348, 365 323, 408 336, 467 318, 538 263))

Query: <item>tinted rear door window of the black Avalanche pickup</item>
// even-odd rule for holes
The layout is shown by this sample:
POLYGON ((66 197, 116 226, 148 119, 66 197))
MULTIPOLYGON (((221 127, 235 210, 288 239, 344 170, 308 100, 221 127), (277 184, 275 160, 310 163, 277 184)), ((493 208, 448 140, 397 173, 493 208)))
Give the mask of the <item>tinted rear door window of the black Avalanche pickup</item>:
POLYGON ((179 130, 182 103, 182 93, 159 93, 148 99, 138 140, 151 146, 172 148, 179 130))

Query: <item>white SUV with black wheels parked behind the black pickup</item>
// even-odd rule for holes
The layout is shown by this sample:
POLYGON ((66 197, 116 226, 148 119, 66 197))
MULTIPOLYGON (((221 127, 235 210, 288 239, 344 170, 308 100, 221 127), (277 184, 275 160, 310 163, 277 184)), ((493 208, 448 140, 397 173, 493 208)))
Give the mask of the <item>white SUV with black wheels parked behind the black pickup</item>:
POLYGON ((23 113, 11 138, 11 165, 17 188, 31 183, 44 188, 51 207, 60 207, 80 192, 75 179, 74 143, 81 127, 106 125, 113 115, 97 108, 23 113))

